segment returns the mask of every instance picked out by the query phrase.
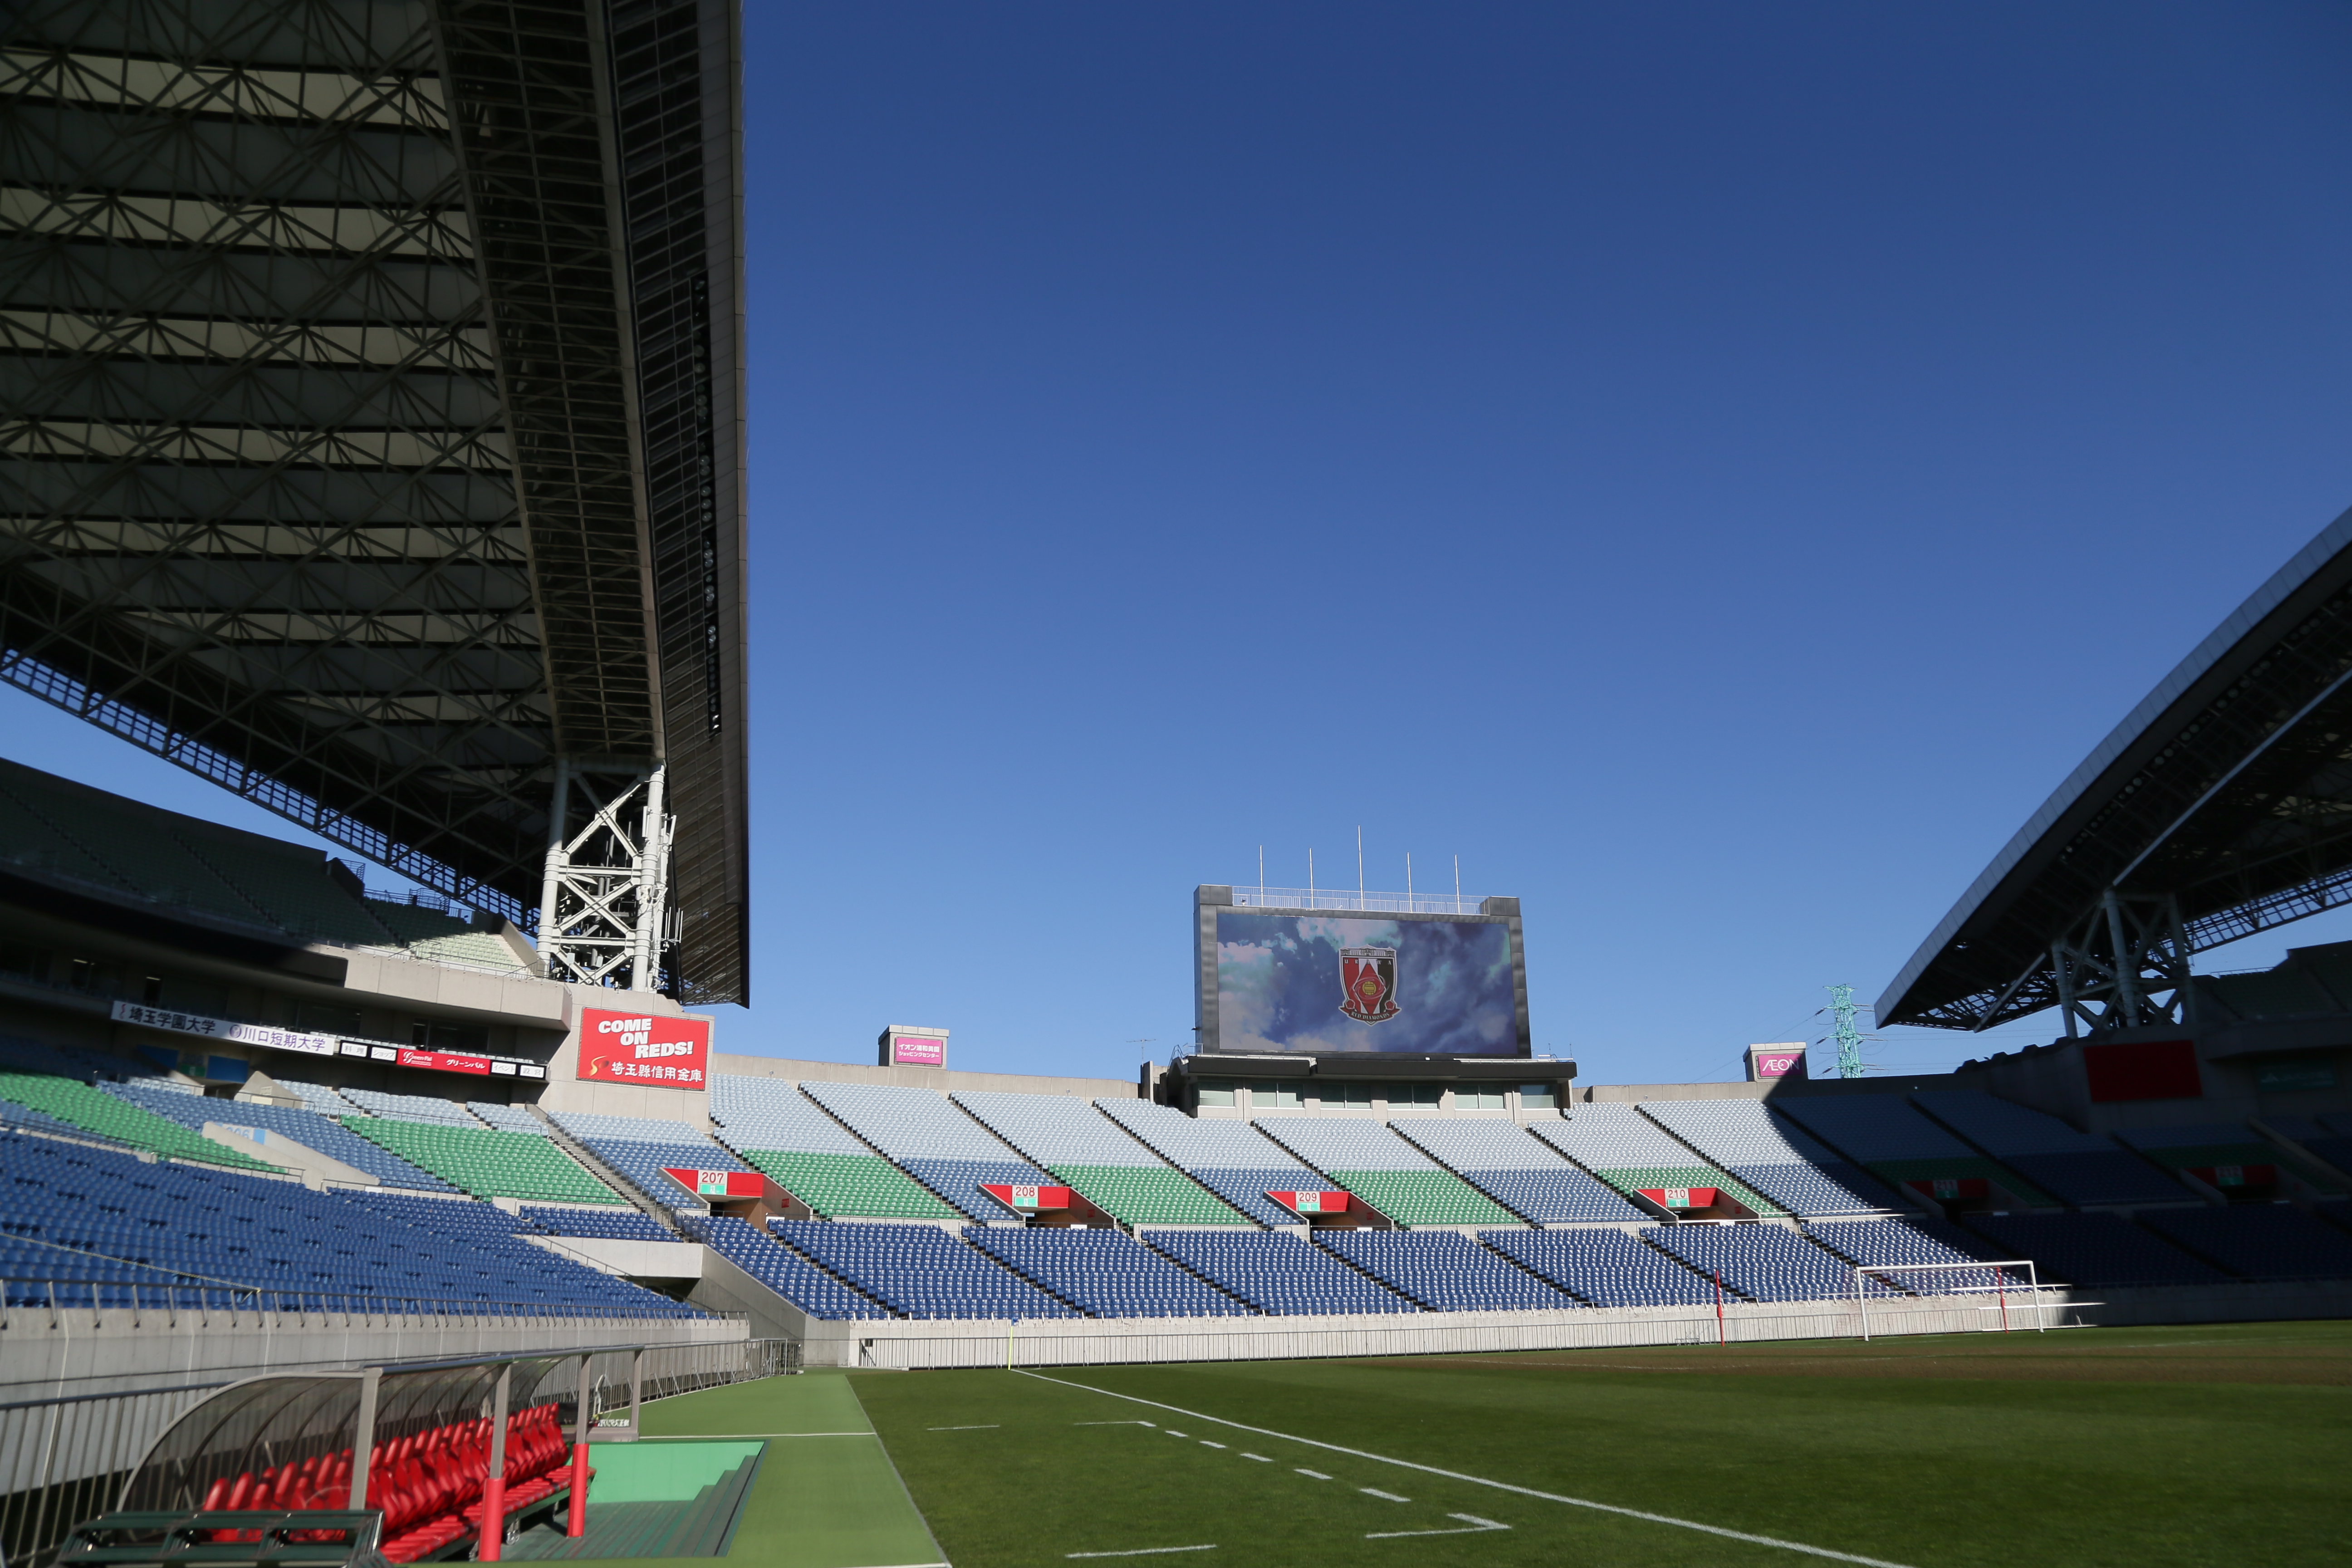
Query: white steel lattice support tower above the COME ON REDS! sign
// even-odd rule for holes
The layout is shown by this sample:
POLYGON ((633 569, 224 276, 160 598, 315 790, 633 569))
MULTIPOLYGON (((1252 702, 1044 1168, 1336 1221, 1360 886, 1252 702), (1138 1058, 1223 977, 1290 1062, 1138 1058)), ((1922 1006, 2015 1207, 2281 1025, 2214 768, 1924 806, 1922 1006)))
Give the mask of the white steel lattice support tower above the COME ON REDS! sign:
POLYGON ((668 990, 670 844, 663 766, 557 759, 539 957, 550 980, 668 990))

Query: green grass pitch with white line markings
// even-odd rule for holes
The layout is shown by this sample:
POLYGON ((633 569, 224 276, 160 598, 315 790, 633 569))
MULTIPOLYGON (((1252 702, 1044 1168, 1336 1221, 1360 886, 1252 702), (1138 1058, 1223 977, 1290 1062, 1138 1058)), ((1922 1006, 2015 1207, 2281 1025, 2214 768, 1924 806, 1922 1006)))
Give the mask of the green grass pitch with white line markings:
POLYGON ((955 1568, 2352 1561, 2352 1324, 849 1382, 955 1568))

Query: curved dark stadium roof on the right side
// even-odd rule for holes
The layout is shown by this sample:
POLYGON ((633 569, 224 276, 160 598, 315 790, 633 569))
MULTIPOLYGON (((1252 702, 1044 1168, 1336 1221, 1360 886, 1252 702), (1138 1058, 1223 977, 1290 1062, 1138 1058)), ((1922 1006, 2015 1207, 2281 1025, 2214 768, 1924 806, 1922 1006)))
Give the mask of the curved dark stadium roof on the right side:
POLYGON ((2352 903, 2352 512, 2100 741, 1879 997, 1983 1030, 2060 1001, 2053 943, 2114 891, 2201 952, 2352 903))

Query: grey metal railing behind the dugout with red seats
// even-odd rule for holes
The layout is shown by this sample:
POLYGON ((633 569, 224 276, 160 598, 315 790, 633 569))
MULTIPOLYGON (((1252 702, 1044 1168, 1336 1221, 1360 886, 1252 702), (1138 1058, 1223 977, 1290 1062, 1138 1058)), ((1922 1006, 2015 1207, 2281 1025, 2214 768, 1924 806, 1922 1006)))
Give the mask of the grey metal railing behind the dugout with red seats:
MULTIPOLYGON (((550 1345, 541 1354, 593 1356, 590 1418, 800 1371, 797 1340, 550 1345)), ((47 1561, 78 1521, 113 1507, 125 1474, 155 1439, 214 1392, 249 1375, 315 1368, 275 1363, 228 1371, 202 1382, 0 1401, 0 1561, 47 1561)))

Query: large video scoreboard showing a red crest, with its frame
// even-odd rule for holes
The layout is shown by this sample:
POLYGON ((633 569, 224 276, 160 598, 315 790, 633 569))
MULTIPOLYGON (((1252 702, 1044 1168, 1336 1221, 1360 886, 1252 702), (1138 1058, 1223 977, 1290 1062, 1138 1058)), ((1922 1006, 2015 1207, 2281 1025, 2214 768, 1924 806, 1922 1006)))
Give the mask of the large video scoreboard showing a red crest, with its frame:
POLYGON ((1517 898, 1388 914, 1261 907, 1202 886, 1192 910, 1202 1051, 1531 1056, 1517 898))

